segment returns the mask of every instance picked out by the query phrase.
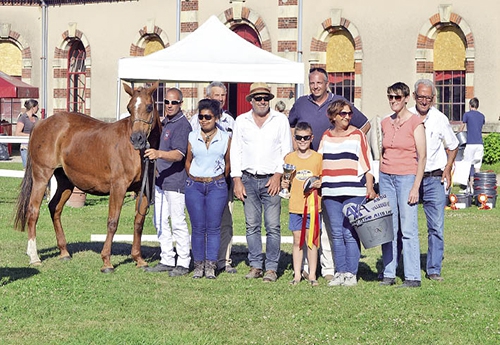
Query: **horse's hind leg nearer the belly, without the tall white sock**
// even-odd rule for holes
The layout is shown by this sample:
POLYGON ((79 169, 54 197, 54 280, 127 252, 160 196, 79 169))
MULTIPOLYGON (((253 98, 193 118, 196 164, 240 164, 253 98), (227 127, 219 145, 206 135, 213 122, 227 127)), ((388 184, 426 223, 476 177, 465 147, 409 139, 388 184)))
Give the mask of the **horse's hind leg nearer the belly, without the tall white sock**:
POLYGON ((60 251, 59 259, 69 260, 71 256, 68 252, 66 236, 61 224, 61 213, 64 204, 73 192, 74 185, 61 168, 54 171, 54 176, 57 180, 57 189, 54 197, 49 202, 50 217, 52 218, 52 224, 56 233, 57 247, 60 251))

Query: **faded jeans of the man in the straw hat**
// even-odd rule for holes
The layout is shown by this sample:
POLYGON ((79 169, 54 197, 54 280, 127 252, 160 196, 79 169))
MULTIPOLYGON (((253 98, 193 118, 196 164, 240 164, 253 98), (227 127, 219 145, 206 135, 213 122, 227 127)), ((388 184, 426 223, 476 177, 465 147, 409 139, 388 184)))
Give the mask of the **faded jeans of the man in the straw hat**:
POLYGON ((280 214, 281 198, 279 195, 270 196, 267 193, 266 183, 269 178, 255 178, 248 175, 241 177, 247 198, 244 202, 246 237, 248 244, 248 261, 253 268, 263 268, 264 254, 262 253, 262 209, 264 209, 264 226, 266 227, 266 270, 278 270, 280 258, 280 214))

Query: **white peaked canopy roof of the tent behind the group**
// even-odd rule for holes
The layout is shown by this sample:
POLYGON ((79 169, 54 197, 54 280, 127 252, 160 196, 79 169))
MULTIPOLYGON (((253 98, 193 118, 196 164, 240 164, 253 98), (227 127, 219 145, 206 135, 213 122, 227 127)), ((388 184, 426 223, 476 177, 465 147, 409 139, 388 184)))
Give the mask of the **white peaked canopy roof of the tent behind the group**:
POLYGON ((118 78, 301 84, 304 64, 254 46, 211 16, 194 32, 165 49, 143 57, 119 59, 118 78))

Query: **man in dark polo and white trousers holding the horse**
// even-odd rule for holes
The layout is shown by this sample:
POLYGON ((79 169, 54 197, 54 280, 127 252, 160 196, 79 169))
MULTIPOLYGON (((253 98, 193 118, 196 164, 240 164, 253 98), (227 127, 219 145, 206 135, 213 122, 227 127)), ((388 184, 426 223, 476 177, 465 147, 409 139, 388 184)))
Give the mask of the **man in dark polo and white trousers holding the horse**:
POLYGON ((187 178, 184 166, 191 125, 181 111, 181 90, 168 89, 164 102, 165 119, 160 147, 158 150, 147 149, 144 154, 149 159, 157 160, 154 222, 161 248, 160 262, 146 271, 168 271, 174 277, 187 274, 191 262, 191 243, 184 212, 187 178))

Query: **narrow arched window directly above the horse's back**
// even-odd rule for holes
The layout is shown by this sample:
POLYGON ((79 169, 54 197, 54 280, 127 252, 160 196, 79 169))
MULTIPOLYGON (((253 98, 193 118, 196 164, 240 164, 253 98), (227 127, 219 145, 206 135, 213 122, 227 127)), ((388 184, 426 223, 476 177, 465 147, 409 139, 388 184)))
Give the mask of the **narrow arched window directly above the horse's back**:
POLYGON ((85 47, 78 39, 71 42, 68 51, 68 77, 67 77, 67 105, 68 111, 85 114, 85 47))

